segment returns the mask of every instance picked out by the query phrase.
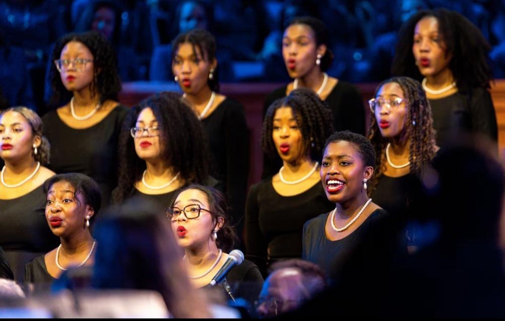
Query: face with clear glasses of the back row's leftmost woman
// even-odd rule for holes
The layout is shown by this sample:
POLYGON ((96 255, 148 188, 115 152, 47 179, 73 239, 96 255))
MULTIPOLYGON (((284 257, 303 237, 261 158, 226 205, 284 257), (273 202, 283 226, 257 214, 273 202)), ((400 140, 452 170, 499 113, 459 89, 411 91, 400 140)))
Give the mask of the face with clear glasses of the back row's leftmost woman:
POLYGON ((68 91, 81 90, 91 85, 94 78, 93 55, 86 45, 70 41, 63 47, 60 59, 72 62, 60 72, 63 86, 68 91))

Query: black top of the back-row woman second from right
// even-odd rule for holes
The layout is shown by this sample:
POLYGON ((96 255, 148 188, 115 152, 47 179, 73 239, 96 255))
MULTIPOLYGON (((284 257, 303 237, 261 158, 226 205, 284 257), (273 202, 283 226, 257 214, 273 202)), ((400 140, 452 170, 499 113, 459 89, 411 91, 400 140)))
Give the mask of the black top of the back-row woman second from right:
MULTIPOLYGON (((287 85, 277 88, 265 98, 263 119, 265 119, 268 107, 275 100, 286 97, 286 88, 287 85)), ((353 133, 366 135, 363 98, 354 85, 339 80, 324 102, 331 109, 335 131, 349 130, 353 133)), ((279 157, 274 160, 265 157, 262 178, 274 175, 281 166, 282 163, 279 157)))

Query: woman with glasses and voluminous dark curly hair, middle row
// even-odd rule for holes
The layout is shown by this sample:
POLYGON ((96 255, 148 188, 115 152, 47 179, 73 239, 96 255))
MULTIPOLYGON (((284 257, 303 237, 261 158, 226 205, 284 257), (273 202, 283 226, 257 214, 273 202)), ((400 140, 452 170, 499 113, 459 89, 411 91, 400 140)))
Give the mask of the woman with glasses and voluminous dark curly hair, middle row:
POLYGON ((191 183, 216 186, 201 123, 176 93, 142 100, 126 114, 119 138, 114 203, 141 196, 166 208, 191 183))

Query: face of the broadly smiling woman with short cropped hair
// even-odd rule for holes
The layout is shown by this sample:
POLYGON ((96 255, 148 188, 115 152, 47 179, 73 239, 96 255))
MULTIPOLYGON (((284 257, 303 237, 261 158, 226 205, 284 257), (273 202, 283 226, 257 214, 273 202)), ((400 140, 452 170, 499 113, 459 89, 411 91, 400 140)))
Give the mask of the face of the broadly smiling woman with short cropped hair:
POLYGON ((344 203, 358 197, 363 179, 370 179, 373 169, 365 166, 357 147, 346 141, 328 144, 321 163, 321 181, 326 197, 333 203, 344 203))

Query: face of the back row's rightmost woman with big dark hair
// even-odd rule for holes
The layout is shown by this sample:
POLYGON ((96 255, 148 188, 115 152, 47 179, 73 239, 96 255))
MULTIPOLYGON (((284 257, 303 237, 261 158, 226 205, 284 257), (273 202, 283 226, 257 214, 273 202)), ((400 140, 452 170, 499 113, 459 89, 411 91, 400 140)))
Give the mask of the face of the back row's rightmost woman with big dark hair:
POLYGON ((449 68, 452 55, 447 53, 441 37, 435 17, 424 17, 414 29, 412 52, 419 72, 424 77, 435 77, 449 68))

